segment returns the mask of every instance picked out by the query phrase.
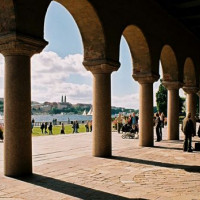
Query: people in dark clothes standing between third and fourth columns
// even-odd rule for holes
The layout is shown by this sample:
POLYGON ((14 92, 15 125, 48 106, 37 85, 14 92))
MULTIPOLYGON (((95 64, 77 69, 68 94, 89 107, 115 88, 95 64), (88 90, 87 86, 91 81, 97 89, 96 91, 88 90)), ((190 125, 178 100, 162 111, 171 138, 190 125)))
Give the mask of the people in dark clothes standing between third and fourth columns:
POLYGON ((162 129, 165 125, 165 115, 162 112, 157 112, 154 114, 153 123, 156 127, 156 136, 157 136, 157 142, 160 142, 162 140, 162 129))

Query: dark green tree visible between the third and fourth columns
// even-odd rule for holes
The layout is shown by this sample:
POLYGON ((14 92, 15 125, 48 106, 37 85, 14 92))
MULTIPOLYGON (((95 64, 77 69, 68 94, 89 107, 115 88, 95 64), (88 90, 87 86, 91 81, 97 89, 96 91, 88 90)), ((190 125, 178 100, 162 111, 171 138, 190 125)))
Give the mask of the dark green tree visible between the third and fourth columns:
POLYGON ((167 89, 162 84, 162 79, 160 80, 160 86, 156 93, 156 103, 158 111, 163 112, 167 116, 167 89))

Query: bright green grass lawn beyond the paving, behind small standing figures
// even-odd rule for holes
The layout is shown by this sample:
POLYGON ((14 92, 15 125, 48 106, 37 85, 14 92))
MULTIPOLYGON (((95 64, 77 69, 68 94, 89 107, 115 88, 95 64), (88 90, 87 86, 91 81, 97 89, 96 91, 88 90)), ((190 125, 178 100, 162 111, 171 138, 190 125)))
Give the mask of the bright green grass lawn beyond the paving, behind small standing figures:
MULTIPOLYGON (((60 130, 61 130, 61 125, 58 126, 53 126, 53 135, 58 135, 60 134, 60 130)), ((42 136, 42 135, 49 135, 49 131, 47 130, 47 134, 42 134, 42 131, 40 129, 40 127, 33 127, 33 132, 32 132, 32 136, 42 136)), ((65 134, 70 134, 73 132, 72 129, 72 125, 65 125, 65 134)), ((78 129, 79 133, 85 133, 85 125, 84 124, 80 124, 79 125, 79 129, 78 129)))

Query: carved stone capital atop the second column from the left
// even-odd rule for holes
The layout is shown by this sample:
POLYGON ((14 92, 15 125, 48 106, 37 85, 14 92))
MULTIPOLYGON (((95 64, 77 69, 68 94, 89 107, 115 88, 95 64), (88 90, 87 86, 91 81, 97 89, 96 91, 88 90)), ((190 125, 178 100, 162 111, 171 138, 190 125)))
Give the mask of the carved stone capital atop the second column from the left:
POLYGON ((93 74, 112 73, 120 67, 120 62, 109 59, 84 60, 83 65, 93 74))

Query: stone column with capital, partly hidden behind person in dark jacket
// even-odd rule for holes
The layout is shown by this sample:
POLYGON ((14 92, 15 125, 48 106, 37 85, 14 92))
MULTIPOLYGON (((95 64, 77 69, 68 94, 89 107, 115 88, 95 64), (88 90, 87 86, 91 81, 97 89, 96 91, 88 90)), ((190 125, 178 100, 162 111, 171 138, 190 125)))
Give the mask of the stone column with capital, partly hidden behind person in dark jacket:
POLYGON ((191 113, 191 119, 194 122, 194 127, 196 130, 196 108, 197 108, 197 96, 196 93, 199 91, 199 89, 197 87, 189 87, 189 86, 184 86, 183 90, 187 93, 187 97, 186 97, 186 112, 190 112, 191 113))

